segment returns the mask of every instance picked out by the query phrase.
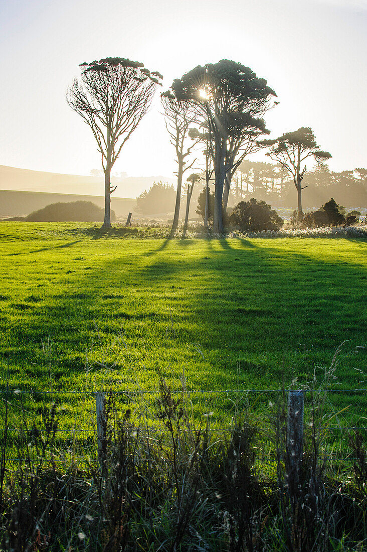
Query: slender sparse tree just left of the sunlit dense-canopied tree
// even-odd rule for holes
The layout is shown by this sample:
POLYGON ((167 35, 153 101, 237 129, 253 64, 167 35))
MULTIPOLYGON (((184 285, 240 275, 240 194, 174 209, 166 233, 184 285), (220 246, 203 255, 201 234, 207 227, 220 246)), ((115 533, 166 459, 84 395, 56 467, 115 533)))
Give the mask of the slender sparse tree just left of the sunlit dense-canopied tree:
POLYGON ((178 164, 177 172, 175 172, 177 176, 176 203, 171 229, 171 236, 173 236, 178 227, 183 174, 189 168, 192 168, 196 161, 194 159, 188 164, 188 157, 197 140, 190 142, 190 146, 187 146, 188 131, 190 126, 195 123, 196 114, 188 102, 184 100, 179 102, 169 91, 161 94, 161 102, 169 139, 175 148, 178 164))

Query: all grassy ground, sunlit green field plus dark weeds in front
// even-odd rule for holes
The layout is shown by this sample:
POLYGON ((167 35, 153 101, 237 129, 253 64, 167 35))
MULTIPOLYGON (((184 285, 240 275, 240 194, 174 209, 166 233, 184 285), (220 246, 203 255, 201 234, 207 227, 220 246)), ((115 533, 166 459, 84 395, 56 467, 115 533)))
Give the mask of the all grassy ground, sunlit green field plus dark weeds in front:
POLYGON ((158 230, 0 226, 1 549, 363 550, 365 239, 158 230))

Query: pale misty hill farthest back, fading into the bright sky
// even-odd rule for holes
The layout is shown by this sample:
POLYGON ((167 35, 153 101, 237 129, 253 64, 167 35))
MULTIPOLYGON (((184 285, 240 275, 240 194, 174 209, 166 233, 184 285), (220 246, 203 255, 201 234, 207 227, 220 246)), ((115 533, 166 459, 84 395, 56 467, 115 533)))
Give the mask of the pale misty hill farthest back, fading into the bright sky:
MULTIPOLYGON (((153 182, 158 181, 167 182, 168 184, 174 182, 172 178, 164 176, 111 177, 111 183, 117 185, 114 193, 116 198, 136 198, 150 188, 153 182)), ((0 189, 100 196, 104 194, 104 180, 103 177, 98 176, 31 171, 30 169, 0 165, 0 189)))

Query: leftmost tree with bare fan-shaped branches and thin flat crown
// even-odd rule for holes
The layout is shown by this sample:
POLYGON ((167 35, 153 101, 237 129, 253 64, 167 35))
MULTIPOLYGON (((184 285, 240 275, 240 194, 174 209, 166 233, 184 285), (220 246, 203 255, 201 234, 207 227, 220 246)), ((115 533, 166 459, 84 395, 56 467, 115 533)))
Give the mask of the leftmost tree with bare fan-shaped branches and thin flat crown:
POLYGON ((111 168, 125 142, 146 114, 162 75, 137 61, 107 57, 81 63, 83 72, 67 92, 70 107, 87 123, 97 141, 104 172, 105 208, 102 228, 111 227, 111 168))

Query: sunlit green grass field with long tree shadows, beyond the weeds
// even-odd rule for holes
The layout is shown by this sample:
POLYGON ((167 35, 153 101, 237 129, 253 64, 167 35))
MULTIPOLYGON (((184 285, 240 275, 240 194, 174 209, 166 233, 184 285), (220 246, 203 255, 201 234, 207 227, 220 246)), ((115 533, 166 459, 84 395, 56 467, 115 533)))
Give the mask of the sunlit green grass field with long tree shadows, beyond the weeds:
MULTIPOLYGON (((315 366, 321 381, 345 340, 339 387, 363 387, 365 240, 93 238, 80 226, 0 226, 2 390, 81 391, 59 399, 76 416, 84 391, 152 390, 159 376, 178 389, 183 372, 192 390, 279 389, 315 366)), ((195 409, 233 399, 201 395, 195 409)), ((353 417, 367 406, 361 394, 335 403, 353 417)))

